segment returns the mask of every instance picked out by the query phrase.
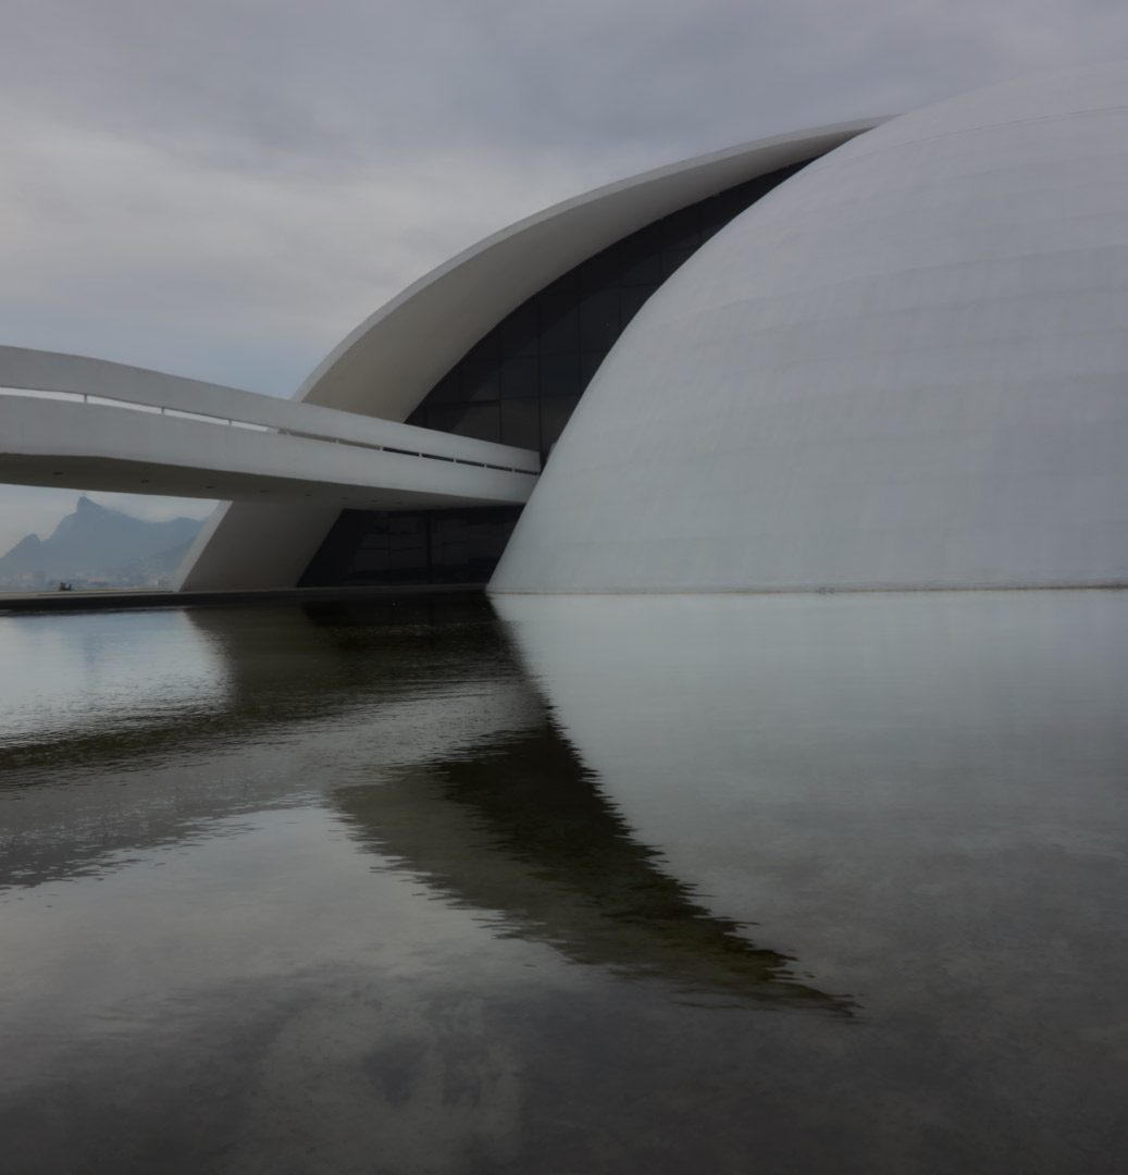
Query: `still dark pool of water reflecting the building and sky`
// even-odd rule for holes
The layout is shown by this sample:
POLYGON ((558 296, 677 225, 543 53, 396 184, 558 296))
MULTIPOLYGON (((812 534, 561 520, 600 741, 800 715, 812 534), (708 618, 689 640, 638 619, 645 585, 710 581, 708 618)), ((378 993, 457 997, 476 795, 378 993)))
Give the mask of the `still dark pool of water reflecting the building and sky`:
POLYGON ((0 616, 6 1173, 1114 1171, 1128 595, 0 616))

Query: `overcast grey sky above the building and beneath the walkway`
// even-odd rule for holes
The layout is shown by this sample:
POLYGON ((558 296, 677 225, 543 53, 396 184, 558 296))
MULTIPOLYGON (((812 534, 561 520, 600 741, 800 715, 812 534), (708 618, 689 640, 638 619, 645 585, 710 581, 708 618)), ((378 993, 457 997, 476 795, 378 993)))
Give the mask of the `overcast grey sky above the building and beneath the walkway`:
MULTIPOLYGON (((558 200, 1128 56, 1123 0, 6 0, 4 26, 0 343, 276 395, 558 200)), ((0 553, 76 497, 0 486, 0 553)))

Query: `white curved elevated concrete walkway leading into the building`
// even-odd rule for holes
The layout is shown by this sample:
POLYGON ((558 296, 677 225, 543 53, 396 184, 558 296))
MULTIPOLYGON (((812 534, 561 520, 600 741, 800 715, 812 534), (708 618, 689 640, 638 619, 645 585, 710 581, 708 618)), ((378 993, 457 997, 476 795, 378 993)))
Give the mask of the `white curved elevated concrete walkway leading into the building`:
POLYGON ((526 449, 0 347, 0 482, 395 510, 522 504, 539 468, 526 449))

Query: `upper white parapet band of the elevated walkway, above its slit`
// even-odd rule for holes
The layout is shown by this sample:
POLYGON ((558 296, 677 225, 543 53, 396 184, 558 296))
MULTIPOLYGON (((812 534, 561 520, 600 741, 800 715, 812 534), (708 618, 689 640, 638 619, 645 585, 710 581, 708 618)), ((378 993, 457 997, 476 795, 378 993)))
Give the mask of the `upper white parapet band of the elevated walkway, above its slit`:
POLYGON ((241 388, 58 351, 0 345, 0 395, 41 395, 274 431, 506 472, 539 474, 539 454, 241 388))

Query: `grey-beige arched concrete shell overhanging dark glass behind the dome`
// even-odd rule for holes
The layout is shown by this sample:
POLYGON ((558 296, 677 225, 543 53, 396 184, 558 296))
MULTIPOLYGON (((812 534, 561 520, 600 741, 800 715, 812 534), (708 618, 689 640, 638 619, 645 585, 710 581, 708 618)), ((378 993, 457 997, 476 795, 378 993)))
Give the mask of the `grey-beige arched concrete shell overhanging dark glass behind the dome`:
MULTIPOLYGON (((403 421, 510 310, 600 249, 725 188, 815 159, 880 119, 776 135, 618 181, 474 246, 361 323, 295 400, 403 421)), ((324 509, 220 505, 177 586, 293 586, 336 518, 324 509)))

